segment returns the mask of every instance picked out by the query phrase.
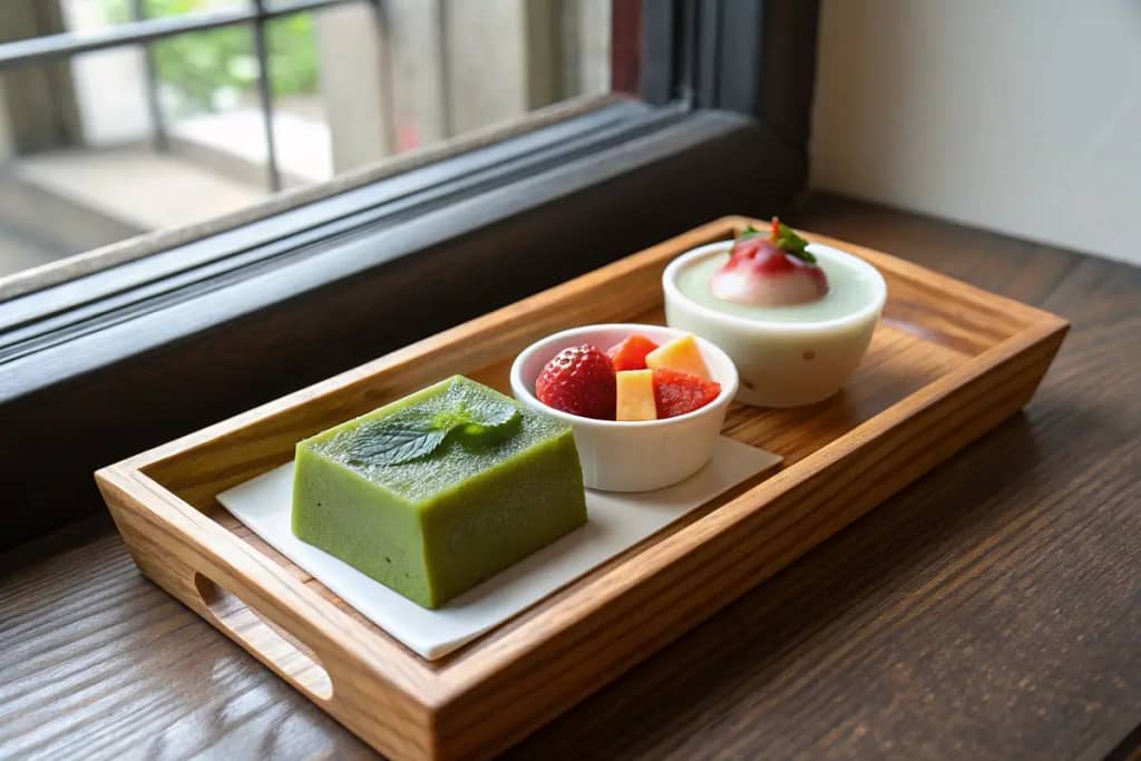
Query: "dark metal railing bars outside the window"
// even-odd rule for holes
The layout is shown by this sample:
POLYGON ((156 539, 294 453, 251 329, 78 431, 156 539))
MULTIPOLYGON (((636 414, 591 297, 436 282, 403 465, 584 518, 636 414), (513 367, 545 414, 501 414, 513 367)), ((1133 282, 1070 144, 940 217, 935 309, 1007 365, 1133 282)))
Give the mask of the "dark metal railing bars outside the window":
POLYGON ((147 18, 146 1, 131 0, 133 21, 94 32, 62 32, 0 43, 0 72, 50 60, 67 59, 80 54, 129 46, 146 48, 145 68, 147 106, 154 146, 168 147, 165 120, 159 99, 157 73, 149 46, 180 34, 203 32, 226 26, 248 26, 253 33, 253 54, 258 62, 258 102, 265 126, 267 181, 273 191, 282 188, 282 172, 274 140, 274 97, 270 87, 269 50, 266 25, 274 18, 310 10, 321 10, 348 2, 367 2, 378 8, 379 0, 248 0, 242 8, 219 8, 164 18, 147 18))

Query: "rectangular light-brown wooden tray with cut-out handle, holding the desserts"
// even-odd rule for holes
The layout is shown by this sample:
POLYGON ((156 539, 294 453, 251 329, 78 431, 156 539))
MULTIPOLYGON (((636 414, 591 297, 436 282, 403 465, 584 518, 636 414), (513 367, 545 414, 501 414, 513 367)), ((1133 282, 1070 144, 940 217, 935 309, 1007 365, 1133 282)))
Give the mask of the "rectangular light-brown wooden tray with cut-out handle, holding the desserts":
POLYGON ((661 322, 662 269, 730 217, 96 473, 143 572, 395 759, 485 758, 696 625, 1019 410, 1067 331, 1051 314, 860 246, 889 299, 839 396, 736 405, 725 431, 785 456, 445 659, 428 663, 215 500, 293 444, 452 373, 504 391, 520 349, 601 322, 661 322))

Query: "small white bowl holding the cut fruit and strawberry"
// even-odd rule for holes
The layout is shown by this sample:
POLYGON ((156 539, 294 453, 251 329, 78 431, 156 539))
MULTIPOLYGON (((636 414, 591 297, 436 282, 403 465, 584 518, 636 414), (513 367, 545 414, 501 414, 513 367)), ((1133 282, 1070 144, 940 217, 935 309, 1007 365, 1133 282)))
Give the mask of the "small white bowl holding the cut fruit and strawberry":
POLYGON ((583 483, 608 492, 648 492, 691 476, 713 456, 725 413, 737 392, 737 369, 725 351, 697 339, 721 394, 701 410, 664 420, 614 421, 580 418, 535 398, 535 379, 568 346, 592 343, 604 351, 633 333, 657 343, 686 334, 659 325, 588 325, 555 333, 524 349, 511 365, 511 391, 523 404, 570 423, 583 483))

